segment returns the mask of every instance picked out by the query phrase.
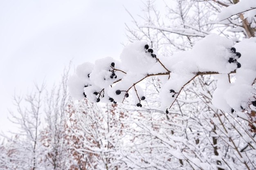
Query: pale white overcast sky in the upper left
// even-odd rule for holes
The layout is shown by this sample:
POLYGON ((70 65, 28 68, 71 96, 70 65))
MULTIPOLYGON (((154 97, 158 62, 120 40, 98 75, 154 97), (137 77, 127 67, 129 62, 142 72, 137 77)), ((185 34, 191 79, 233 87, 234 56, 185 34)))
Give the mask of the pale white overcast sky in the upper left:
POLYGON ((13 126, 14 92, 26 95, 43 79, 50 88, 70 60, 119 57, 132 26, 124 7, 142 14, 139 0, 0 0, 0 131, 13 126))

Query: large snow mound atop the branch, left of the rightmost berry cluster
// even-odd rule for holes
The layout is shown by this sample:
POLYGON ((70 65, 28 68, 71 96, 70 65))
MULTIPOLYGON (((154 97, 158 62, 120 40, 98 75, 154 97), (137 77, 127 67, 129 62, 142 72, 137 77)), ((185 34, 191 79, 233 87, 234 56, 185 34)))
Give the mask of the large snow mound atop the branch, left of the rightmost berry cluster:
POLYGON ((236 69, 235 63, 228 60, 234 54, 230 51, 233 42, 216 34, 198 41, 191 51, 170 57, 166 67, 175 73, 197 73, 213 71, 229 73, 236 69))

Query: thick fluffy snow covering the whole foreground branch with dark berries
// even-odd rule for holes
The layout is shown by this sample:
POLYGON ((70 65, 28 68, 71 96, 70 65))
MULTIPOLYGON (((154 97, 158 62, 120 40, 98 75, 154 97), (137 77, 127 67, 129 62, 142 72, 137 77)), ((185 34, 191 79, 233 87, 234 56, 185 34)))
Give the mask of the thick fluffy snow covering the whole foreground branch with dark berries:
POLYGON ((95 64, 85 62, 70 77, 70 94, 92 102, 124 102, 131 96, 138 107, 146 99, 140 82, 157 76, 162 80, 159 96, 163 110, 171 108, 182 89, 198 75, 219 75, 213 104, 224 111, 248 108, 256 100, 256 38, 237 44, 216 34, 198 41, 191 51, 162 57, 146 42, 126 46, 120 61, 112 57, 95 64), (241 54, 243 57, 241 57, 241 54), (236 73, 235 82, 229 74, 236 73))

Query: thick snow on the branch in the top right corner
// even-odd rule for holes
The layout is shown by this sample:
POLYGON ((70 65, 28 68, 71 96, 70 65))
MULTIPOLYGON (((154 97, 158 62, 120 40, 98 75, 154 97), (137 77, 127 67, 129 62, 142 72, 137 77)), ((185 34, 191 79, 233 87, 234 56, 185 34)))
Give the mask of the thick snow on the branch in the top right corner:
POLYGON ((227 8, 224 8, 219 14, 218 18, 220 21, 230 18, 233 15, 238 13, 243 13, 245 11, 246 17, 253 17, 256 15, 256 1, 255 0, 240 0, 237 4, 230 5, 227 8))

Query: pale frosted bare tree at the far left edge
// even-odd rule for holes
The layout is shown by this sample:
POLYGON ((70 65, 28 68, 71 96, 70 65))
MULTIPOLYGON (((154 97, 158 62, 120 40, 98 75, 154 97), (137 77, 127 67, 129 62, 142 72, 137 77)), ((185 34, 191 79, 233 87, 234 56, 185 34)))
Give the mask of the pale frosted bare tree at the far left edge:
POLYGON ((4 136, 7 144, 3 147, 1 159, 4 168, 13 170, 39 170, 42 160, 40 148, 40 114, 42 113, 42 97, 45 86, 35 86, 36 90, 24 99, 14 97, 17 113, 11 112, 11 121, 19 128, 13 132, 14 137, 4 136), (26 106, 25 108, 23 106, 26 106))

